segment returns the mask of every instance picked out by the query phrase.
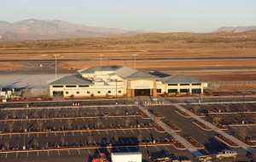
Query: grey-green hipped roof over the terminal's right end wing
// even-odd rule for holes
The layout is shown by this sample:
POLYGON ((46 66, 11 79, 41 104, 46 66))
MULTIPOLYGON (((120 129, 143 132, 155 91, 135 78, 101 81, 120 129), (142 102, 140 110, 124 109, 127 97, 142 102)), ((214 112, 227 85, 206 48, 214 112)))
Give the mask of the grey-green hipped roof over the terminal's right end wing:
POLYGON ((164 83, 199 83, 199 79, 189 77, 187 75, 171 75, 161 78, 160 81, 164 83))

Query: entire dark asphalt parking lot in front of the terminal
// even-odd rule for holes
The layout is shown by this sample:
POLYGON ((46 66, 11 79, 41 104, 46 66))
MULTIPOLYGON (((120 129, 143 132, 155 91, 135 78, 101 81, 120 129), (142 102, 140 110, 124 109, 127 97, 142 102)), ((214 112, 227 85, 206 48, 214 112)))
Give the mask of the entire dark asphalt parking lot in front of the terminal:
MULTIPOLYGON (((90 161, 99 152, 107 154, 109 158, 112 152, 141 151, 144 161, 149 161, 150 156, 195 161, 189 150, 175 148, 167 140, 172 136, 165 131, 158 131, 154 127, 154 120, 142 115, 131 100, 130 103, 126 102, 128 104, 125 100, 118 103, 115 104, 115 100, 101 103, 46 102, 32 103, 28 108, 19 106, 20 103, 12 103, 11 106, 3 103, 0 114, 0 159, 50 161, 54 158, 56 161, 90 161)), ((229 134, 244 128, 247 137, 253 138, 255 126, 229 124, 236 120, 255 122, 255 115, 250 113, 255 111, 255 103, 243 105, 201 104, 198 111, 205 114, 201 119, 208 121, 219 116, 222 119, 220 122, 226 123, 225 132, 229 134), (245 107, 249 112, 244 111, 245 107)), ((182 106, 191 110, 195 104, 182 106)), ((198 148, 201 154, 214 154, 230 148, 238 153, 237 160, 248 160, 246 150, 231 148, 218 140, 215 137, 217 132, 205 131, 196 126, 193 123, 195 119, 178 114, 174 105, 151 105, 148 109, 162 115, 160 120, 172 122, 181 129, 177 131, 181 137, 189 136, 199 142, 203 146, 198 148)))

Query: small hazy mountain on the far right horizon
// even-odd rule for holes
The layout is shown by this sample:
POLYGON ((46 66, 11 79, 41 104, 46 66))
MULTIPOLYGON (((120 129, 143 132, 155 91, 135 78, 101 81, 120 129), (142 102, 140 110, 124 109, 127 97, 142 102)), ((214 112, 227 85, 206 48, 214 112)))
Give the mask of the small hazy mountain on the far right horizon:
POLYGON ((213 33, 216 33, 216 32, 244 32, 244 31, 255 31, 255 30, 256 30, 255 25, 252 25, 252 26, 236 26, 236 27, 222 26, 222 27, 218 28, 218 30, 212 31, 212 32, 213 33))

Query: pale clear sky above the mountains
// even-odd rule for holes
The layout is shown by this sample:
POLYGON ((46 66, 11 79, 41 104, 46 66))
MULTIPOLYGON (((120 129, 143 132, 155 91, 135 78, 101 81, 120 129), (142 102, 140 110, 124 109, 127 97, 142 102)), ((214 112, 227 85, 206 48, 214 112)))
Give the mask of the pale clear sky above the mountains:
POLYGON ((0 20, 64 20, 131 31, 256 25, 256 0, 0 0, 0 20))

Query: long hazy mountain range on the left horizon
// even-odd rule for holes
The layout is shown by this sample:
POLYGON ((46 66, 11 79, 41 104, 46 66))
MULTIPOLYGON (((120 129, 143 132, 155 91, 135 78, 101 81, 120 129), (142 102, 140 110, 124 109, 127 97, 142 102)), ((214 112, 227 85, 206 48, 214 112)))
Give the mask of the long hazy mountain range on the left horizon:
POLYGON ((61 20, 22 20, 15 23, 0 21, 0 39, 44 40, 63 38, 107 37, 137 34, 117 28, 76 25, 61 20))

